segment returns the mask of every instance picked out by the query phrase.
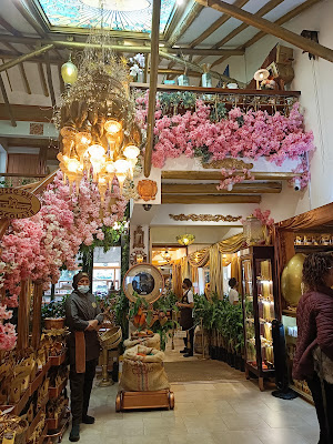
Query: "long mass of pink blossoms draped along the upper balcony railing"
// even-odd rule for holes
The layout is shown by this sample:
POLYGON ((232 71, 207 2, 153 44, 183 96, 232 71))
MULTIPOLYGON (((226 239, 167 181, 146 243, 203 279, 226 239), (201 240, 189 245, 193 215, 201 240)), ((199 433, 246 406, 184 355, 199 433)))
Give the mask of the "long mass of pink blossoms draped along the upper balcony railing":
MULTIPOLYGON (((137 99, 137 121, 147 128, 148 97, 137 99)), ((286 159, 300 159, 314 150, 313 133, 304 132, 303 115, 295 103, 289 117, 276 112, 270 115, 266 111, 250 110, 243 112, 234 108, 228 119, 211 122, 211 109, 198 100, 195 112, 183 115, 162 115, 160 103, 157 103, 154 134, 157 143, 152 154, 152 163, 162 168, 169 158, 185 154, 195 155, 195 149, 206 148, 211 160, 230 158, 250 158, 256 160, 264 157, 268 161, 281 165, 286 159)), ((304 170, 303 182, 307 168, 304 170)))

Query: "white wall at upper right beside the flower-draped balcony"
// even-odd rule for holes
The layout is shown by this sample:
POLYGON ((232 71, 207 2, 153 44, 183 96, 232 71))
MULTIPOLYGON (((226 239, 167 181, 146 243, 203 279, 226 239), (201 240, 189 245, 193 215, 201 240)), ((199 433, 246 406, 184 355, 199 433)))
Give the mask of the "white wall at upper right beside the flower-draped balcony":
MULTIPOLYGON (((284 28, 300 34, 303 29, 319 31, 320 43, 333 48, 333 1, 324 0, 284 28)), ((246 49, 245 62, 248 80, 261 67, 270 50, 278 43, 290 46, 272 36, 266 36, 246 49)), ((333 201, 333 63, 316 59, 309 60, 307 54, 294 48, 295 78, 292 90, 301 91, 301 105, 305 114, 305 128, 312 130, 316 151, 311 159, 310 208, 317 208, 333 201)), ((300 206, 301 210, 302 205, 300 206)), ((295 208, 299 211, 297 206, 295 208)), ((306 210, 305 210, 306 211, 306 210)))

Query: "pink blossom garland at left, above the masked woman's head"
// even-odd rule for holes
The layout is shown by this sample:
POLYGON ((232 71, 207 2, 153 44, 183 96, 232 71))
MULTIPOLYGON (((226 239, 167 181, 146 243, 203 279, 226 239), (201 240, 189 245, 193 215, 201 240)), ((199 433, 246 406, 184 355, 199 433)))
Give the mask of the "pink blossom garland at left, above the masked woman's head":
MULTIPOLYGON (((13 220, 1 240, 0 287, 13 295, 4 301, 7 306, 17 306, 21 281, 41 281, 47 289, 51 282, 58 282, 61 265, 75 269, 80 245, 90 245, 94 234, 102 240, 103 224, 112 226, 121 221, 128 203, 114 180, 112 194, 107 193, 101 212, 97 185, 82 180, 77 196, 63 184, 61 172, 40 200, 39 213, 13 220)), ((11 313, 6 305, 0 305, 0 350, 14 345, 14 330, 9 323, 1 323, 11 313)))

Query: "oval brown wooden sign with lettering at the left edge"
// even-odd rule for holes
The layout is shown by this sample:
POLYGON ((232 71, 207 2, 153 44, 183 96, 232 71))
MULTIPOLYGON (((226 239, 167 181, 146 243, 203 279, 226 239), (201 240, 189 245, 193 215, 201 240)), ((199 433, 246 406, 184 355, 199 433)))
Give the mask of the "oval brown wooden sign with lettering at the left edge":
POLYGON ((0 188, 0 218, 31 218, 40 210, 40 201, 29 191, 17 188, 0 188))

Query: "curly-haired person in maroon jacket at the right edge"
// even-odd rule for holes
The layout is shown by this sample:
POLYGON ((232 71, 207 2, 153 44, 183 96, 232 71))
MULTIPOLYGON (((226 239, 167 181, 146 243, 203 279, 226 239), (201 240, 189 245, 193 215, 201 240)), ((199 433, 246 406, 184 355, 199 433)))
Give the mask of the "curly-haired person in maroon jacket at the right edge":
POLYGON ((293 379, 305 380, 320 423, 319 444, 333 443, 333 255, 310 254, 303 264, 306 292, 297 305, 293 379))

